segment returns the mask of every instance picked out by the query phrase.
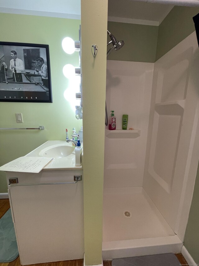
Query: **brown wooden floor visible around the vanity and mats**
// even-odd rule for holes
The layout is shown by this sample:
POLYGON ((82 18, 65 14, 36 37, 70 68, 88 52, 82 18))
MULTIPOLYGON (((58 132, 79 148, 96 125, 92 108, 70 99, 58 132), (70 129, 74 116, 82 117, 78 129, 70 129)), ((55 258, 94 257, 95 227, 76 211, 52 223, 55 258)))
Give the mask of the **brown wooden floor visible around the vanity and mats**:
MULTIPOLYGON (((0 199, 0 218, 7 212, 10 208, 10 203, 8 199, 0 199)), ((181 265, 188 265, 185 258, 181 253, 175 254, 179 260, 181 265)), ((83 266, 83 259, 75 259, 75 260, 65 260, 65 261, 57 261, 57 262, 49 262, 49 263, 39 263, 39 264, 31 264, 31 266, 83 266)), ((103 261, 104 266, 112 266, 111 260, 103 261)), ((9 263, 0 263, 0 266, 22 266, 20 263, 19 257, 17 257, 14 261, 9 263)))

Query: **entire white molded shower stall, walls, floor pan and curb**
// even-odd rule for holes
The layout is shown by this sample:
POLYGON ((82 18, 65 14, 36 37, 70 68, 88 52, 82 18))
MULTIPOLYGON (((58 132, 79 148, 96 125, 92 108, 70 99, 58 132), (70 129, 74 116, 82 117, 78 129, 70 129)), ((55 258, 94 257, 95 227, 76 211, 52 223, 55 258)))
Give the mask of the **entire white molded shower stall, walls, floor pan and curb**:
MULTIPOLYGON (((133 52, 133 51, 132 51, 133 52)), ((193 32, 155 63, 107 61, 103 259, 181 252, 199 159, 193 32), (122 115, 128 128, 122 130, 122 115)))

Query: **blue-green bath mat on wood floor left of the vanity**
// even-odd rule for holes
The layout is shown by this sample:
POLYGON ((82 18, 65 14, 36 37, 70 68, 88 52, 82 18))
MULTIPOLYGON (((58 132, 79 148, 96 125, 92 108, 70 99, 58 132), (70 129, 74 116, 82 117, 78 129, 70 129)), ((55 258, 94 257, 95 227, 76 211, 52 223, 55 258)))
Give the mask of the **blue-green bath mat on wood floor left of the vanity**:
POLYGON ((11 210, 0 219, 0 262, 11 262, 19 256, 11 210))

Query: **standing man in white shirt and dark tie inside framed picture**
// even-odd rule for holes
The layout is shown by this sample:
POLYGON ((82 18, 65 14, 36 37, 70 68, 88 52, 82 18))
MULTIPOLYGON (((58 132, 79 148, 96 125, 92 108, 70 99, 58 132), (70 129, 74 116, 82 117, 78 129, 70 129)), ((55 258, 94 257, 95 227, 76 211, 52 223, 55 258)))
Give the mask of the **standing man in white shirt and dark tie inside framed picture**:
POLYGON ((24 63, 17 58, 16 51, 11 51, 10 70, 12 70, 12 78, 14 82, 23 82, 21 72, 24 71, 24 63))

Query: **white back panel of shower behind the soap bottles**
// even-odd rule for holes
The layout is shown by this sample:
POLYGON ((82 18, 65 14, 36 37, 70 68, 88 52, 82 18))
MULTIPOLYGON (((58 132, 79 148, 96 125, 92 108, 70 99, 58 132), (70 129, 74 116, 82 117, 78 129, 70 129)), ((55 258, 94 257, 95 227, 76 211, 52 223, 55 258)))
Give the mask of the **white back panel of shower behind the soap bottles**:
POLYGON ((116 130, 105 129, 104 188, 142 186, 153 66, 107 60, 106 104, 108 116, 115 111, 116 130), (127 128, 138 130, 121 130, 123 114, 127 128))

